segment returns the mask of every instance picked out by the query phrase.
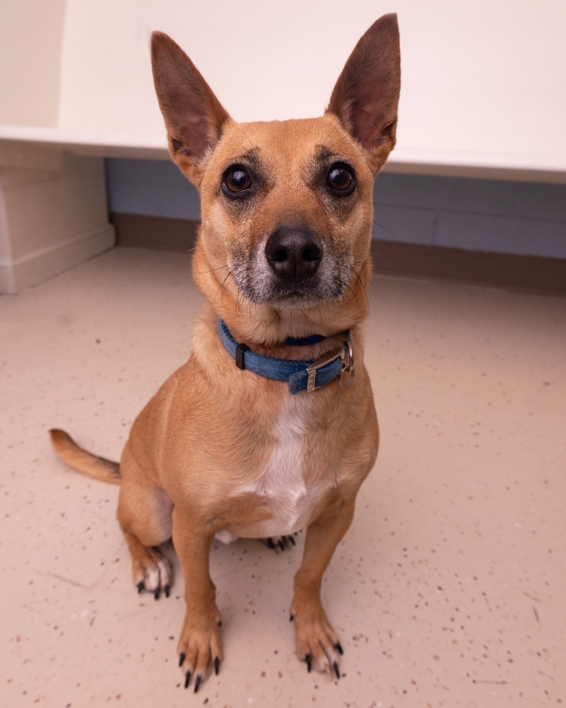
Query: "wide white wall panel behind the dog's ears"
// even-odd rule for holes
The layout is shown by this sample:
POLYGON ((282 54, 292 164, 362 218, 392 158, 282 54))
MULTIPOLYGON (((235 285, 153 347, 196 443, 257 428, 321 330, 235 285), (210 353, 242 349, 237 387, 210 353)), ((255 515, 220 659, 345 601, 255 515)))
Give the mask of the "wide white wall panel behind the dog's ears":
POLYGON ((388 11, 403 55, 393 159, 566 169, 564 0, 67 0, 59 124, 163 135, 153 29, 183 46, 236 120, 318 115, 388 11))

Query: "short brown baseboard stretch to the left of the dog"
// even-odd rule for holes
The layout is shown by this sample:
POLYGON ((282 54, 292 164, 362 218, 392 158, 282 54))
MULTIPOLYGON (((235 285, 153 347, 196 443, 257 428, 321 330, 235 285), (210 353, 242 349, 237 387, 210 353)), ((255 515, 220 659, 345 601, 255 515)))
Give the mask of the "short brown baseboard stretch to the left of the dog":
POLYGON ((187 253, 195 245, 199 222, 110 212, 117 246, 187 253))

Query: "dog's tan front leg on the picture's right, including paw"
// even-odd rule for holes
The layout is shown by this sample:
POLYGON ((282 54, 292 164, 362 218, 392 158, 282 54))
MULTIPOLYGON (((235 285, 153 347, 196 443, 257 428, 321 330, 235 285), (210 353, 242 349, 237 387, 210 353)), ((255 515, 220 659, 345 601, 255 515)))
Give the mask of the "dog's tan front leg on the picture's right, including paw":
POLYGON ((326 619, 320 602, 323 573, 342 536, 354 517, 355 497, 343 498, 308 526, 301 567, 294 581, 291 620, 295 623, 296 653, 308 670, 334 673, 340 678, 338 663, 342 646, 326 619))

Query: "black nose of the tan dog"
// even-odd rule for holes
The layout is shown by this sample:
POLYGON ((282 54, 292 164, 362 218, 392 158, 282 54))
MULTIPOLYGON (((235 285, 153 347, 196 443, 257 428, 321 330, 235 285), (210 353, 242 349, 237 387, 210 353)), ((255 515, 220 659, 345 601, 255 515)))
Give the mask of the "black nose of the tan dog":
POLYGON ((318 236, 307 227, 281 227, 265 245, 271 268, 286 280, 303 280, 318 268, 323 251, 318 236))

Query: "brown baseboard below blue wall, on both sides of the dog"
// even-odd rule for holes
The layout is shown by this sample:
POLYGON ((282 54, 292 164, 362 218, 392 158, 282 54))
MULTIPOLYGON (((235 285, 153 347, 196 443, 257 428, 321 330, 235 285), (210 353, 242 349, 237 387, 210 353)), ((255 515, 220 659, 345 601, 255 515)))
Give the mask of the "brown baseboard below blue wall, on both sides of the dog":
MULTIPOLYGON (((198 222, 185 219, 110 214, 119 246, 183 251, 192 249, 198 222)), ((443 278, 482 285, 534 290, 566 295, 566 260, 507 253, 463 251, 444 246, 421 246, 397 241, 374 240, 371 244, 374 270, 382 275, 443 278)))

